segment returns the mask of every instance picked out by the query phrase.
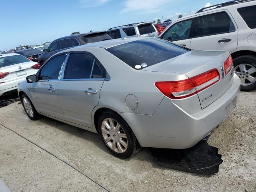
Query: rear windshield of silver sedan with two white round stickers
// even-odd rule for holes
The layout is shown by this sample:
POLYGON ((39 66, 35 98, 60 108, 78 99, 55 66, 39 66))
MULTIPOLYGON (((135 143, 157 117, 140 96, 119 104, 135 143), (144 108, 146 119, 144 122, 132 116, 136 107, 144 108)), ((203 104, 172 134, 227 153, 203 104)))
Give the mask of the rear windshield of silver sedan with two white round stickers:
POLYGON ((190 51, 158 38, 143 38, 106 50, 134 69, 152 66, 190 51))

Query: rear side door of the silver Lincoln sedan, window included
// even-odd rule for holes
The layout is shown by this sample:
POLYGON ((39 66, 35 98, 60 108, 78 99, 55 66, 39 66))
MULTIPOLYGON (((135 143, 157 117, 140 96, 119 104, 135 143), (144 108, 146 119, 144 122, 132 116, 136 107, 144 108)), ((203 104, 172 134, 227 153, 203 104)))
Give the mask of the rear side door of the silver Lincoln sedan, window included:
POLYGON ((71 53, 63 78, 58 84, 58 99, 65 120, 92 128, 92 110, 98 105, 106 72, 94 56, 71 53))

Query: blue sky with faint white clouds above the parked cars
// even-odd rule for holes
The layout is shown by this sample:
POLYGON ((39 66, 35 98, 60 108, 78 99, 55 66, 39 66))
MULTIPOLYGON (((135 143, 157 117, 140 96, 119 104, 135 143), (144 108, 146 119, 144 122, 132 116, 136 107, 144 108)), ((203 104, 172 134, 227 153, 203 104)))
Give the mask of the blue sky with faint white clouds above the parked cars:
POLYGON ((71 32, 110 27, 162 16, 176 19, 221 0, 1 0, 0 51, 41 44, 71 32))

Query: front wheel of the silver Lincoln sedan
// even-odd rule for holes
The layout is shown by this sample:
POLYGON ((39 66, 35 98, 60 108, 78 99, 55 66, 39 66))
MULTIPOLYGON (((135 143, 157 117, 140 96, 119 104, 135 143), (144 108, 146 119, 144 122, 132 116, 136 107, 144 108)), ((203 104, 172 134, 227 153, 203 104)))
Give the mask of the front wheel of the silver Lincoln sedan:
POLYGON ((34 105, 30 101, 28 96, 26 96, 26 94, 23 94, 21 96, 21 101, 22 101, 22 105, 23 105, 24 110, 25 110, 26 114, 28 115, 28 117, 31 120, 38 120, 40 118, 40 114, 38 114, 38 112, 34 108, 34 105))

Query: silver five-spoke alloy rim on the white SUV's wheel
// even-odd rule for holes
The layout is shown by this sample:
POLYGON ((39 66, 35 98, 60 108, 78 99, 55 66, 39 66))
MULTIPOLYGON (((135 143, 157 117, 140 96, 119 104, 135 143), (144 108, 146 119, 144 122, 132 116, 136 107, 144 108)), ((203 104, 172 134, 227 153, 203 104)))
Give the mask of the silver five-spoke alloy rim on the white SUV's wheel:
POLYGON ((240 78, 242 86, 256 82, 256 68, 250 64, 240 64, 234 68, 234 72, 240 78))

